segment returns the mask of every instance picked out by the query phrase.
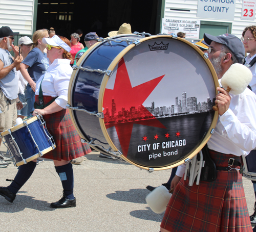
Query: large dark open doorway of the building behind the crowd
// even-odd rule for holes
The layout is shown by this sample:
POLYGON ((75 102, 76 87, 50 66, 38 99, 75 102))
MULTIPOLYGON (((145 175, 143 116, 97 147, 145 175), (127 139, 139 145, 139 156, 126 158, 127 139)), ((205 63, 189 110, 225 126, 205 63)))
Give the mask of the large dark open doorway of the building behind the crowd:
POLYGON ((81 29, 83 36, 96 32, 107 37, 126 22, 132 32, 155 35, 159 33, 161 4, 162 0, 38 0, 36 30, 53 27, 56 34, 70 38, 81 29))

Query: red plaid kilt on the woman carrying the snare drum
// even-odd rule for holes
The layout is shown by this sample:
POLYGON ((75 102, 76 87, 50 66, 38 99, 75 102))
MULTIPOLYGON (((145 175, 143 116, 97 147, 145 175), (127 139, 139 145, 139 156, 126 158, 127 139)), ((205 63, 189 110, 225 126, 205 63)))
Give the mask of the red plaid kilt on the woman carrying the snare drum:
MULTIPOLYGON (((51 96, 44 96, 44 103, 51 99, 51 96)), ((35 101, 38 104, 38 95, 35 96, 35 101)), ((44 154, 44 158, 58 161, 72 160, 92 151, 87 143, 81 143, 67 109, 44 115, 44 120, 56 144, 56 148, 44 154)))

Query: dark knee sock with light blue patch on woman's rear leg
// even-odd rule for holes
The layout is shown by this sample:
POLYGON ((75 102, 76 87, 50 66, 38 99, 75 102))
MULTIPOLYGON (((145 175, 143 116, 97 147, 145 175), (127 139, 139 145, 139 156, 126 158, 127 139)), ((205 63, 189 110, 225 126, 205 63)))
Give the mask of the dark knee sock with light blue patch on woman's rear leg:
POLYGON ((74 194, 74 173, 73 173, 73 167, 72 164, 66 164, 63 166, 55 166, 55 170, 58 173, 60 177, 60 181, 62 183, 63 192, 65 193, 65 196, 67 199, 73 200, 74 194))

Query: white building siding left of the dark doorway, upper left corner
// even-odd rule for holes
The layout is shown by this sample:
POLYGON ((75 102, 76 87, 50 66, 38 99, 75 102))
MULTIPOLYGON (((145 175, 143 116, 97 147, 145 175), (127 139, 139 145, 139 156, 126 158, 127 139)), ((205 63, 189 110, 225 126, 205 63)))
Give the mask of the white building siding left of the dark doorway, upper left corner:
POLYGON ((0 0, 0 27, 8 26, 13 32, 33 34, 33 0, 0 0))

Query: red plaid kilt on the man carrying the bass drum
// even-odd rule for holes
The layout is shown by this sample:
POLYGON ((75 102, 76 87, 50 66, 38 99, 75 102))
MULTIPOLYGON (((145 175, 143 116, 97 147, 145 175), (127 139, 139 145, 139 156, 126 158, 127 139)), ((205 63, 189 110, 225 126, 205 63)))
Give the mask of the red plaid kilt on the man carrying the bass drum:
MULTIPOLYGON (((227 167, 229 158, 240 157, 209 150, 216 166, 227 167)), ((233 166, 232 166, 233 167, 233 166)), ((237 167, 239 168, 239 167, 237 167)), ((238 170, 218 171, 214 182, 188 186, 182 178, 165 211, 161 227, 169 231, 252 231, 238 170)))

